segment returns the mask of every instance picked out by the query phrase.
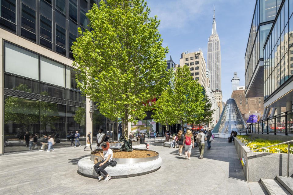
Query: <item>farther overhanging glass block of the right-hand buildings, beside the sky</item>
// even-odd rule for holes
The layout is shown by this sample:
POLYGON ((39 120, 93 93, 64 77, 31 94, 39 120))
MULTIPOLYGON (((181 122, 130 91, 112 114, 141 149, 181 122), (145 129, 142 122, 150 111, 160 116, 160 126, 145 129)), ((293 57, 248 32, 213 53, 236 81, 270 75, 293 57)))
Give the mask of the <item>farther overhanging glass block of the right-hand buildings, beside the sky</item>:
POLYGON ((245 97, 263 96, 263 46, 281 0, 257 0, 245 52, 245 97))

